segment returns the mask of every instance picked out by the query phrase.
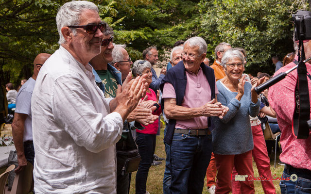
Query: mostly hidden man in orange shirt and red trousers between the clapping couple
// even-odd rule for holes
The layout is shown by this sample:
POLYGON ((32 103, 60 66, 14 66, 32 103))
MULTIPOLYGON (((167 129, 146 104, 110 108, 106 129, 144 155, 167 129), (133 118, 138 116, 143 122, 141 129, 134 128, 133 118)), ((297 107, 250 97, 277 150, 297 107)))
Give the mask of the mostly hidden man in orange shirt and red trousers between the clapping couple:
MULTIPOLYGON (((210 65, 211 68, 214 69, 215 79, 216 81, 225 77, 225 70, 221 65, 223 55, 226 50, 231 49, 231 45, 229 43, 222 42, 215 48, 216 60, 213 65, 210 65)), ((216 162, 214 158, 214 154, 212 153, 209 165, 207 167, 206 178, 207 178, 207 191, 209 194, 215 193, 216 182, 215 177, 217 173, 216 162)))

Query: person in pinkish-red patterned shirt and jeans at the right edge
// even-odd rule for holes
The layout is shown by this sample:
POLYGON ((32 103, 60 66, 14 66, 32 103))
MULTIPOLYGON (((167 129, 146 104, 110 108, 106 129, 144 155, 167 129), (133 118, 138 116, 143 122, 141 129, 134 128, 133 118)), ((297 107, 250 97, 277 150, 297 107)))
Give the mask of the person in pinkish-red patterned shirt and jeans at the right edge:
MULTIPOLYGON (((311 57, 311 40, 304 40, 303 45, 306 59, 308 59, 311 57)), ((294 62, 296 60, 298 60, 298 56, 295 56, 294 62)), ((281 67, 274 76, 293 68, 296 65, 294 62, 281 67)), ((311 64, 306 63, 306 67, 310 73, 311 64)), ((311 77, 308 76, 307 80, 310 96, 311 77)), ((268 94, 270 106, 276 112, 277 123, 282 131, 280 161, 285 163, 283 179, 280 181, 282 194, 302 194, 311 191, 311 131, 309 130, 307 139, 297 139, 292 132, 296 82, 297 69, 289 73, 282 81, 271 86, 268 94)))

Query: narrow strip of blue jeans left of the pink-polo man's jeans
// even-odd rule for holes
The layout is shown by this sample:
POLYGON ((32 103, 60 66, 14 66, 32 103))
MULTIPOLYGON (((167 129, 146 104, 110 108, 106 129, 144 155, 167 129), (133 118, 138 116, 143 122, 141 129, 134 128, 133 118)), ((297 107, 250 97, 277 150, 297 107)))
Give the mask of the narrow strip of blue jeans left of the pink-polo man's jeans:
MULTIPOLYGON (((166 134, 167 127, 164 129, 164 136, 166 134)), ((163 194, 171 194, 170 186, 171 186, 171 167, 170 167, 170 153, 171 153, 171 146, 164 142, 165 145, 165 171, 163 177, 163 194)))

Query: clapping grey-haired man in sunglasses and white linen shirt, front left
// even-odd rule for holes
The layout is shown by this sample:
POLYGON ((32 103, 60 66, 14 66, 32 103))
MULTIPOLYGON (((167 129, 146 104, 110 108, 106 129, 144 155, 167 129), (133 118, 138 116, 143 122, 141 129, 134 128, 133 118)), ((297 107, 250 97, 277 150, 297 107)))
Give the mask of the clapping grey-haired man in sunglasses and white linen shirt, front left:
POLYGON ((118 86, 104 98, 88 62, 101 52, 106 24, 89 1, 60 7, 60 48, 40 69, 32 96, 35 193, 116 193, 115 144, 145 80, 118 86))

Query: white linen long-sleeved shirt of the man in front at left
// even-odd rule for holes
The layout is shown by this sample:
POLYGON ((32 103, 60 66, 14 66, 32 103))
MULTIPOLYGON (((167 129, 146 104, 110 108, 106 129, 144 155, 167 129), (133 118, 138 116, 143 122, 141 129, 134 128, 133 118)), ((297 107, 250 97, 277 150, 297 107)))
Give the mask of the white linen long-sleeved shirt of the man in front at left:
POLYGON ((44 63, 32 97, 36 194, 116 193, 123 121, 111 99, 63 47, 44 63))

